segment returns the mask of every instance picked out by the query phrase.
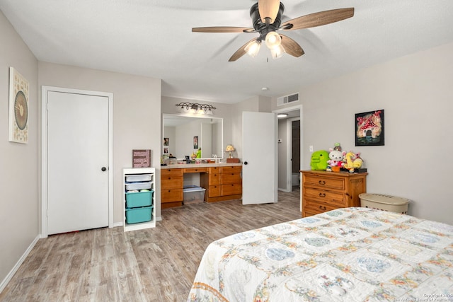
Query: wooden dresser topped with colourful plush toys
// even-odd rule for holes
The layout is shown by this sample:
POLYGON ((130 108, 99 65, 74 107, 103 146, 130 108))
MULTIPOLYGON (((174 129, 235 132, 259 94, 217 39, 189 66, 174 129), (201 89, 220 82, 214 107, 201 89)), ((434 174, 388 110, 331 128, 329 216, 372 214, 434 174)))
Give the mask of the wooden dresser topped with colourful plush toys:
POLYGON ((345 207, 360 207, 368 173, 302 170, 302 217, 345 207))

